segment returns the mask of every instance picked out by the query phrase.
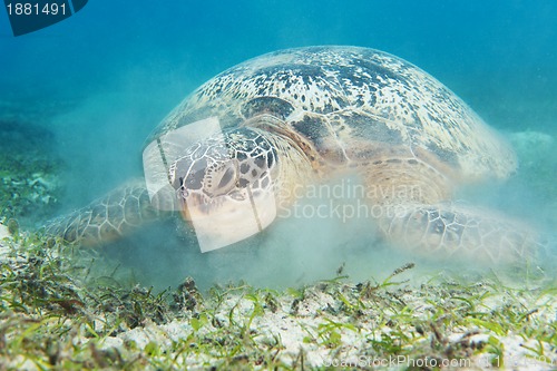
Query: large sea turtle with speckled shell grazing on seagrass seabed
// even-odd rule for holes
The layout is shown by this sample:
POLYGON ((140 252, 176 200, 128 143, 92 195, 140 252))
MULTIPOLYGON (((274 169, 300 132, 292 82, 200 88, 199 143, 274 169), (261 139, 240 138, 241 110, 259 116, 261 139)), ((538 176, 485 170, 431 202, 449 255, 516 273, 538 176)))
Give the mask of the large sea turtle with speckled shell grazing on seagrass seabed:
POLYGON ((262 231, 310 186, 354 175, 370 223, 395 246, 494 263, 538 246, 522 223, 451 202, 459 185, 516 172, 507 143, 433 77, 373 49, 306 47, 237 65, 159 124, 144 163, 147 182, 47 233, 97 244, 179 211, 211 250, 262 231))

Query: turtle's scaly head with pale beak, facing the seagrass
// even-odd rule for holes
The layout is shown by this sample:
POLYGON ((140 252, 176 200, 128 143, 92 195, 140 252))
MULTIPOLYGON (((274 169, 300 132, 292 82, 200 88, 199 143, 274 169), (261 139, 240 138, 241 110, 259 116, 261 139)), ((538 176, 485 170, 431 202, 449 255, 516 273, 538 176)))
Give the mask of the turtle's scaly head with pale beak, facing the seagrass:
MULTIPOLYGON (((273 177, 276 150, 265 134, 252 128, 235 128, 206 138, 176 159, 169 168, 169 180, 186 221, 207 224, 214 231, 226 231, 226 238, 240 241, 268 225, 275 214, 273 177), (273 205, 271 205, 273 204, 273 205), (255 231, 243 231, 243 225, 255 231), (244 235, 241 237, 240 235, 244 235)), ((232 243, 229 242, 229 243, 232 243)))

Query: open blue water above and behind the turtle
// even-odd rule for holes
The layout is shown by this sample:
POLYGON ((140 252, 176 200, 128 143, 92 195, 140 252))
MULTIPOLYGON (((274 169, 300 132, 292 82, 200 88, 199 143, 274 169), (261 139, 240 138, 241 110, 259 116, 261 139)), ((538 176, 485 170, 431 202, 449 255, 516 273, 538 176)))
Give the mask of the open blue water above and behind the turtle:
POLYGON ((551 0, 91 0, 17 38, 1 9, 0 107, 56 134, 69 209, 141 176, 145 138, 195 87, 257 55, 310 45, 391 52, 502 131, 557 131, 551 0))

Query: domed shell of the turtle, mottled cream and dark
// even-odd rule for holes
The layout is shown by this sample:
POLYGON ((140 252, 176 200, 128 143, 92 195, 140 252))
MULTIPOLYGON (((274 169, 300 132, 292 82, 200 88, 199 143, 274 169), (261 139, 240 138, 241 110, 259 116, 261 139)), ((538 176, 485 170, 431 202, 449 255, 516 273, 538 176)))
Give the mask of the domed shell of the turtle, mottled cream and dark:
POLYGON ((324 164, 408 154, 465 179, 502 178, 517 167, 506 141, 441 82, 358 47, 287 49, 229 68, 178 105, 149 141, 208 117, 227 128, 261 114, 283 120, 324 164))

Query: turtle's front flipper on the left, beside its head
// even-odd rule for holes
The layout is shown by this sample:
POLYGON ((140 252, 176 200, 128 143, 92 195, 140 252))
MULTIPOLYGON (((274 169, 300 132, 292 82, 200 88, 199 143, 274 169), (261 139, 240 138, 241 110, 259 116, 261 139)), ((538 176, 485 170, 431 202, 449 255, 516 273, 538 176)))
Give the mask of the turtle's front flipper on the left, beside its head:
POLYGON ((117 240, 145 223, 159 218, 144 180, 128 183, 67 215, 47 222, 45 233, 81 245, 117 240))

